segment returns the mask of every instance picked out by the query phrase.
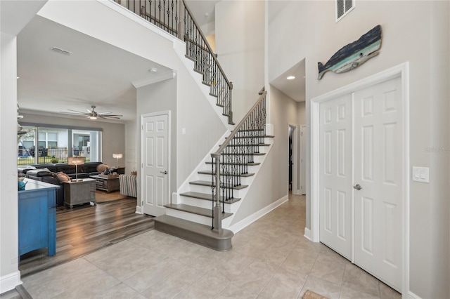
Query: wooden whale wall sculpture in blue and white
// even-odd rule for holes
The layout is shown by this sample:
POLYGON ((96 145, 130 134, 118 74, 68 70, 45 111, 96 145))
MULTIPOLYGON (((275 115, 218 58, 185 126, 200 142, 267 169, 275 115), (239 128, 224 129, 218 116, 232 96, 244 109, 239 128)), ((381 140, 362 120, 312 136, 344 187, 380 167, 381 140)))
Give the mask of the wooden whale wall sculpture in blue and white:
POLYGON ((348 44, 331 56, 330 60, 322 65, 318 62, 319 78, 322 79, 325 72, 331 71, 335 73, 348 72, 364 62, 378 55, 381 47, 381 26, 373 27, 366 34, 361 36, 357 41, 348 44))

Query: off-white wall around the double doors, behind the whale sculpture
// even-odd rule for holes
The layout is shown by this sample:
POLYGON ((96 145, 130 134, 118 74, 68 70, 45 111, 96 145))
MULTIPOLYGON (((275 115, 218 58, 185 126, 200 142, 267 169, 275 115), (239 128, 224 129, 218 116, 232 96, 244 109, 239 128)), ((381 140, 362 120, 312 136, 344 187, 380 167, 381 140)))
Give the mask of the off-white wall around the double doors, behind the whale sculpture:
MULTIPOLYGON (((410 164, 430 167, 429 184, 410 182, 410 291, 422 298, 447 298, 450 294, 449 153, 427 152, 426 148, 445 150, 450 143, 449 1, 385 4, 357 1, 354 11, 335 23, 333 1, 271 1, 269 9, 273 8, 274 14, 269 24, 269 78, 278 77, 306 58, 309 126, 311 98, 409 61, 410 164), (317 62, 326 62, 342 46, 378 24, 383 29, 378 56, 352 72, 328 72, 323 79, 316 79, 317 62)), ((309 196, 307 227, 310 227, 309 196)))

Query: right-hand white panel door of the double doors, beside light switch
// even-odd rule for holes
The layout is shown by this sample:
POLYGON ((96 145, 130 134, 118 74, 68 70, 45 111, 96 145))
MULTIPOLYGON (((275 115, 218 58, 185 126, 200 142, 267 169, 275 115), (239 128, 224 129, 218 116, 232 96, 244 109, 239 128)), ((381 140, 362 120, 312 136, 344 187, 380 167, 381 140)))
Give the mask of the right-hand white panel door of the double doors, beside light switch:
POLYGON ((401 79, 354 93, 354 263, 401 289, 401 79), (358 188, 359 189, 359 188, 358 188))

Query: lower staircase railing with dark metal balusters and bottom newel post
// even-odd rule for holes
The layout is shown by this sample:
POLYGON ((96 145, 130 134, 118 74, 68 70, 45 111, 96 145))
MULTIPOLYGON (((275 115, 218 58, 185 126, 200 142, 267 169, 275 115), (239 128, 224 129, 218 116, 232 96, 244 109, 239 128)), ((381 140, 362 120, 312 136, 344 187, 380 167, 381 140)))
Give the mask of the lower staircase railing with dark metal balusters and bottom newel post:
POLYGON ((241 178, 248 174, 248 165, 255 161, 259 146, 266 135, 266 91, 231 131, 212 157, 212 229, 221 232, 221 214, 226 201, 234 198, 240 189, 241 178))

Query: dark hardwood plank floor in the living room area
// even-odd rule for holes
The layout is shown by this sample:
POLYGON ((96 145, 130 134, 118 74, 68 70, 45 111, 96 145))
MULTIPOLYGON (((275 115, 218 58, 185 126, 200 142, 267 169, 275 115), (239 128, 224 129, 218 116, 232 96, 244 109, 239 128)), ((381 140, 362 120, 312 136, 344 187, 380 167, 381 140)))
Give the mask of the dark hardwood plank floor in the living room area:
MULTIPOLYGON (((104 198, 106 195, 101 194, 104 198)), ((112 199, 116 192, 110 193, 112 199)), ((136 214, 136 199, 103 201, 65 208, 56 208, 56 255, 48 256, 39 249, 20 256, 22 277, 68 262, 136 234, 153 230, 153 218, 136 214)))

